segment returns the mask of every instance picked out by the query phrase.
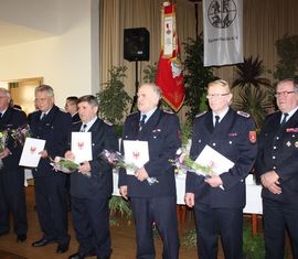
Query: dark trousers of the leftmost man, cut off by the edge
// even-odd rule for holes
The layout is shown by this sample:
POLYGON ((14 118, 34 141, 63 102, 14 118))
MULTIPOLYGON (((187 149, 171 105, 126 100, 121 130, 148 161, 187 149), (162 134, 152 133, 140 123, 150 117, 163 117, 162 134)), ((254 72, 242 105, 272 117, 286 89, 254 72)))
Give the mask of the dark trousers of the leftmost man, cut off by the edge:
POLYGON ((0 170, 0 234, 10 229, 10 214, 17 235, 28 230, 23 170, 0 170))

